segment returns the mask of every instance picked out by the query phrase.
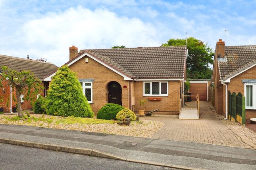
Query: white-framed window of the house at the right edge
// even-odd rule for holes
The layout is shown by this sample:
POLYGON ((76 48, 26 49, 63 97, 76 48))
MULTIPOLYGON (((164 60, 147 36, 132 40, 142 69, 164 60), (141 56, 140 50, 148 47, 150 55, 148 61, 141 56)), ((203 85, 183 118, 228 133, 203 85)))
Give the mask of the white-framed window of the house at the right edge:
POLYGON ((256 84, 244 84, 245 108, 256 110, 256 84))

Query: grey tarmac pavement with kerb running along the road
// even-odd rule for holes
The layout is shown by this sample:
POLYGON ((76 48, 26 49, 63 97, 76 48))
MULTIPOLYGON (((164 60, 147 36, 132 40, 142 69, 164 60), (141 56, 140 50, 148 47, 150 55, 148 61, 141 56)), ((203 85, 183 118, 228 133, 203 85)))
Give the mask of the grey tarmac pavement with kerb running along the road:
POLYGON ((255 149, 194 142, 0 125, 0 143, 186 170, 256 169, 255 149))

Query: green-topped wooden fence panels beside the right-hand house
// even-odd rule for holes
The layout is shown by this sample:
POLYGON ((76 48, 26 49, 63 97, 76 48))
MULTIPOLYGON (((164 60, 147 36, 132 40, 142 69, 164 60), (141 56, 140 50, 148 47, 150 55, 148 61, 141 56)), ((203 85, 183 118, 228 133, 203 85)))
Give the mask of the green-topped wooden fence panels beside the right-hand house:
POLYGON ((229 91, 229 120, 245 124, 245 97, 229 91))

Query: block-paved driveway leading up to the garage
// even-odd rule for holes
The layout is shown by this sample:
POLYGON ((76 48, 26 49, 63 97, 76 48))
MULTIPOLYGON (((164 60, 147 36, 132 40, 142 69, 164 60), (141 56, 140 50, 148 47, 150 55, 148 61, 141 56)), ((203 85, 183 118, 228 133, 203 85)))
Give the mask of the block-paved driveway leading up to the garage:
POLYGON ((155 139, 253 148, 244 143, 241 137, 216 117, 210 109, 210 102, 200 101, 199 116, 199 120, 182 120, 178 117, 140 117, 140 119, 165 123, 164 127, 152 136, 155 139))

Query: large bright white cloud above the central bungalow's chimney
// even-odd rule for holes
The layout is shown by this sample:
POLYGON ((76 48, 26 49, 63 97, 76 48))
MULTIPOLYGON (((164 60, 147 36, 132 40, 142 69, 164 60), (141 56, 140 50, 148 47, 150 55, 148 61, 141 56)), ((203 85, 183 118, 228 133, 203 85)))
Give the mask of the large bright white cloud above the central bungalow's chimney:
POLYGON ((159 46, 162 34, 150 23, 118 17, 106 9, 91 11, 81 6, 62 13, 48 13, 22 26, 20 35, 30 56, 48 58, 54 64, 68 61, 68 47, 79 49, 159 46))

